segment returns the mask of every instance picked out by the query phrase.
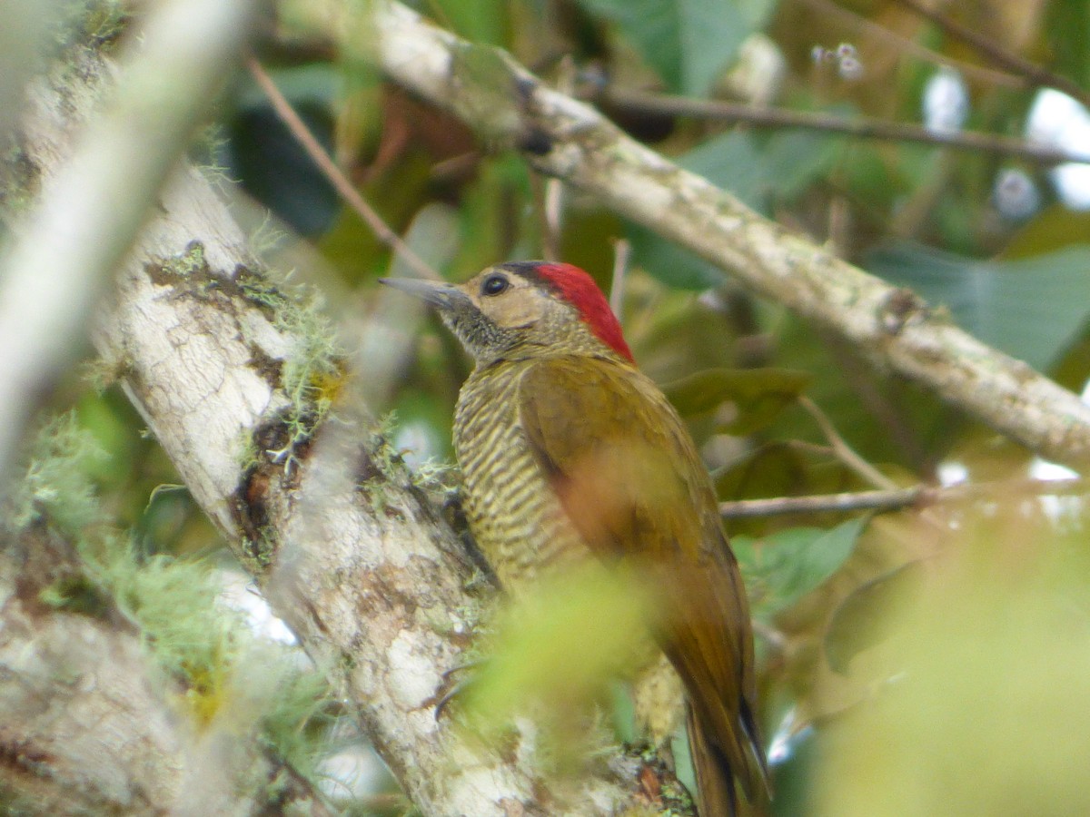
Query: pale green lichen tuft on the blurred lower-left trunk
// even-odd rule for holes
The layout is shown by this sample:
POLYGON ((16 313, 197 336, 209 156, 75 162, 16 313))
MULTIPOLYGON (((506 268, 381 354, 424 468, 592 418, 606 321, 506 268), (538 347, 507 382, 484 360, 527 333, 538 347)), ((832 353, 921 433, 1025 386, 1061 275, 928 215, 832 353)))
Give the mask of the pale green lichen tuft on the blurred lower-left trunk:
POLYGON ((313 777, 337 706, 325 674, 300 669, 296 649, 258 637, 241 612, 225 608, 209 561, 145 557, 133 537, 112 529, 87 476, 88 460, 100 455, 74 413, 49 423, 32 446, 8 519, 21 529, 51 526, 78 554, 39 600, 132 622, 179 682, 173 703, 198 729, 252 731, 266 754, 313 777))

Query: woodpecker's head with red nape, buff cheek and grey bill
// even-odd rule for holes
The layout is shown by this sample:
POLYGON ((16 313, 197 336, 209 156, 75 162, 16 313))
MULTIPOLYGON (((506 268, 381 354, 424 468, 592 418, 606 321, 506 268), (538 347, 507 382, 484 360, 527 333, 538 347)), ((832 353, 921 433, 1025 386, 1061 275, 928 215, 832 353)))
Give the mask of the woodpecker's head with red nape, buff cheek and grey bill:
POLYGON ((632 353, 594 279, 570 264, 512 261, 462 284, 408 278, 382 283, 439 312, 479 366, 504 357, 632 353))

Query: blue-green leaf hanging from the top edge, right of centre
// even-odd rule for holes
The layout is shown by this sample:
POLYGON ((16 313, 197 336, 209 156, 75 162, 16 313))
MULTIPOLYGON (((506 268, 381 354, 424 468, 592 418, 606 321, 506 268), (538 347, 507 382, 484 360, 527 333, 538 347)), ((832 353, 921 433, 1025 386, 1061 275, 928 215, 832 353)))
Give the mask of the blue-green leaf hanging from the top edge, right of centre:
POLYGON ((613 20, 667 87, 704 96, 774 0, 581 0, 613 20))

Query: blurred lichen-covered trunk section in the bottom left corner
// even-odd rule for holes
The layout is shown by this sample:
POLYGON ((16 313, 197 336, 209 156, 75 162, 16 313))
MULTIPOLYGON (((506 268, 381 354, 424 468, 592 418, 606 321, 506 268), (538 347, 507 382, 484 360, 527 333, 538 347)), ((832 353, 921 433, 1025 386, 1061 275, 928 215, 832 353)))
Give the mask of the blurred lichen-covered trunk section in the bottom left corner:
POLYGON ((181 717, 171 698, 184 691, 109 599, 94 615, 46 602, 84 570, 46 522, 0 538, 0 810, 327 815, 252 733, 199 730, 181 717))

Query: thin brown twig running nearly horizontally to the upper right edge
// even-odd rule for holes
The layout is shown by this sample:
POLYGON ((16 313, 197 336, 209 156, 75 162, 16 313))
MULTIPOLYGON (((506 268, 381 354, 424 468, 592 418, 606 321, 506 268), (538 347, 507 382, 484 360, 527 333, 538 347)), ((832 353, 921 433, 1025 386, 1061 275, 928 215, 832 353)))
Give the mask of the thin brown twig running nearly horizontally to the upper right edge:
POLYGON ((1040 164, 1058 164, 1068 161, 1090 162, 1090 153, 1071 153, 1046 145, 1034 145, 1009 136, 996 136, 976 131, 937 133, 907 122, 886 122, 865 118, 843 119, 816 111, 756 108, 741 102, 692 99, 616 88, 603 92, 598 98, 617 108, 668 117, 746 122, 756 127, 804 127, 811 131, 844 133, 868 139, 912 142, 922 145, 952 147, 958 150, 977 150, 1040 164))

